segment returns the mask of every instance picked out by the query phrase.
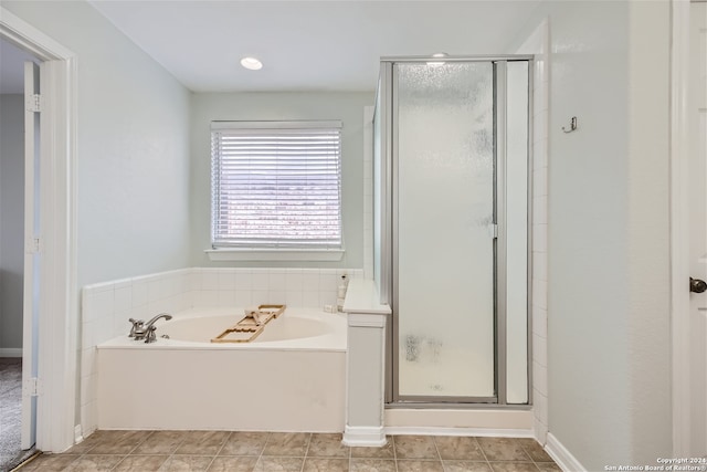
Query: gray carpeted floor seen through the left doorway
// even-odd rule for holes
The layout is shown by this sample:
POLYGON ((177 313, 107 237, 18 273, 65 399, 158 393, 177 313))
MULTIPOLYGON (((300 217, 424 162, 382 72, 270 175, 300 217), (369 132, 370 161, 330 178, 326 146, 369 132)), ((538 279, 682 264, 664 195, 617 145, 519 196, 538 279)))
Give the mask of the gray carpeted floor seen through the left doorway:
POLYGON ((0 471, 17 465, 22 457, 22 359, 0 357, 0 471))

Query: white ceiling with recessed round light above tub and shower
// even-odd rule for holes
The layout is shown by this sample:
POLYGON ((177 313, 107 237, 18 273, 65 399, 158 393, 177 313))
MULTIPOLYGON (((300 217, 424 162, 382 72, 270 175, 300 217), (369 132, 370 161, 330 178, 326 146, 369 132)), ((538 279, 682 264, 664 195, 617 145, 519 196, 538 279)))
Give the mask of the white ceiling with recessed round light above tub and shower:
POLYGON ((505 52, 539 1, 91 3, 191 91, 235 92, 372 91, 381 56, 505 52))

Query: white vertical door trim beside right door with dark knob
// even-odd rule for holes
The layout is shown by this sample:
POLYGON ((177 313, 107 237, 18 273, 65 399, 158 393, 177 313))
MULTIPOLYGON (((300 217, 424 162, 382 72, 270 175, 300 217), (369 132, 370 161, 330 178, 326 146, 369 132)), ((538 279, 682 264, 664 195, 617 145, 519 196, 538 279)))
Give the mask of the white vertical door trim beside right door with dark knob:
POLYGON ((671 51, 671 318, 673 332, 673 455, 687 457, 689 412, 689 171, 687 90, 689 76, 689 0, 672 1, 671 51))

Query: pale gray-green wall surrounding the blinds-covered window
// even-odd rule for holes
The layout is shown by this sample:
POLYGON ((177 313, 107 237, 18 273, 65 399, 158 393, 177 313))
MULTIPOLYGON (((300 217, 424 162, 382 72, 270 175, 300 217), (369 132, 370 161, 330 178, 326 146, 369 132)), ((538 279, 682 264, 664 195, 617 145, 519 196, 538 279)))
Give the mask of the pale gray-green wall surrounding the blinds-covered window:
POLYGON ((363 107, 373 92, 200 93, 191 99, 191 265, 363 266, 363 107), (340 119, 341 202, 346 254, 339 262, 210 262, 212 120, 340 119))

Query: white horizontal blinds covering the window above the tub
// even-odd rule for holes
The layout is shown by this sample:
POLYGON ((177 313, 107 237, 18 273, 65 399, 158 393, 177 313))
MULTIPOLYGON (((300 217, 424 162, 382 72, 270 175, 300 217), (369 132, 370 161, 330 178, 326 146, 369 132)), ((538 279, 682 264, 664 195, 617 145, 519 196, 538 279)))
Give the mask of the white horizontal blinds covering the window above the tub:
POLYGON ((211 124, 214 249, 341 249, 340 122, 211 124))

